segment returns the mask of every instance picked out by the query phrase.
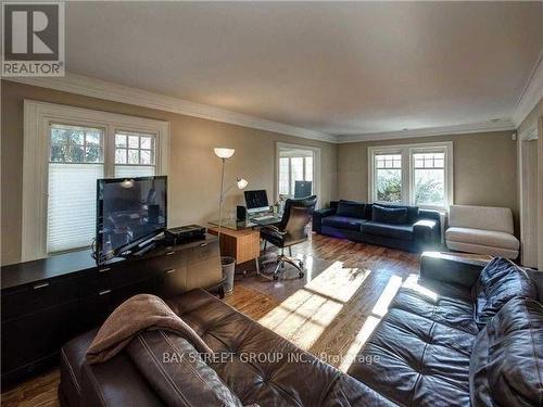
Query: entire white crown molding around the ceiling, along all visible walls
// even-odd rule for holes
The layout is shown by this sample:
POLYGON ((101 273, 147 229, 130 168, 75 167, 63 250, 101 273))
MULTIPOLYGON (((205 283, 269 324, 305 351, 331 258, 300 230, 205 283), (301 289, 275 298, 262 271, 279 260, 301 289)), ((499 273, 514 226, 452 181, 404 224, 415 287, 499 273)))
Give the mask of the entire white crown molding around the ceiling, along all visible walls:
MULTIPOLYGON (((522 92, 522 98, 519 99, 516 112, 531 112, 533 106, 541 99, 543 87, 536 88, 536 80, 543 84, 543 64, 538 64, 529 86, 522 92), (539 78, 539 79, 538 79, 539 78), (530 100, 528 100, 528 98, 530 100)), ((311 140, 319 140, 330 143, 350 143, 358 141, 376 141, 376 140, 392 140, 392 139, 408 139, 415 137, 429 136, 451 136, 472 132, 502 131, 514 130, 518 127, 516 120, 500 120, 478 124, 463 124, 443 127, 429 127, 409 130, 397 130, 387 132, 367 132, 358 135, 330 135, 327 132, 315 131, 302 127, 291 126, 283 123, 266 120, 255 116, 250 116, 241 113, 230 112, 224 109, 214 107, 206 104, 194 103, 187 100, 163 96, 160 93, 150 92, 137 88, 127 87, 124 85, 113 84, 110 81, 91 78, 88 76, 67 73, 64 77, 10 77, 2 78, 25 85, 37 86, 41 88, 54 89, 63 92, 83 94, 86 97, 103 99, 119 103, 126 103, 142 107, 155 109, 165 112, 177 113, 187 116, 200 117, 210 120, 228 123, 260 130, 273 131, 282 135, 289 135, 311 140)), ((523 113, 519 113, 521 116, 523 113)), ((525 116, 521 116, 523 119, 525 116)))

